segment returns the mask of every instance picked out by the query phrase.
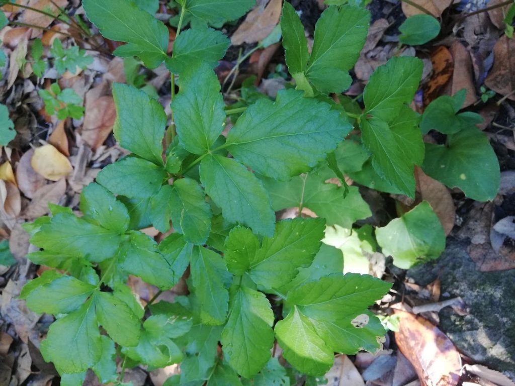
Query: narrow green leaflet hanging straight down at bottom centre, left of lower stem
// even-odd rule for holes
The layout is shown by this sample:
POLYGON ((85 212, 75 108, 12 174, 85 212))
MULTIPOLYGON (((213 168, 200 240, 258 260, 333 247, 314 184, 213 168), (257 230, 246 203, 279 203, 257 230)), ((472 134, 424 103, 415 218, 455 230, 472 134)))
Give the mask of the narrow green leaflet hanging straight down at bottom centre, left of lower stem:
POLYGON ((191 275, 195 294, 201 304, 202 323, 218 325, 226 320, 231 274, 224 259, 209 249, 194 247, 191 275))

